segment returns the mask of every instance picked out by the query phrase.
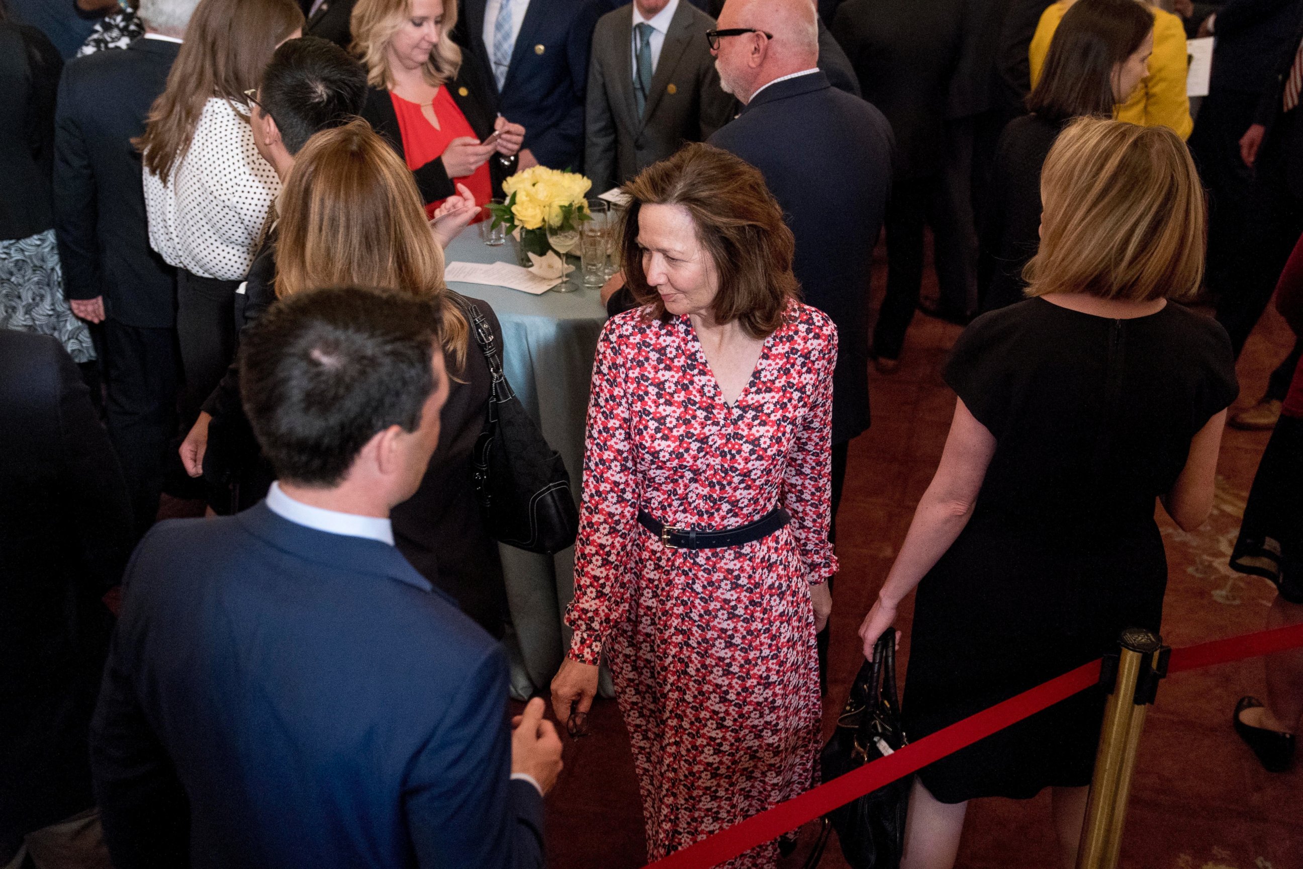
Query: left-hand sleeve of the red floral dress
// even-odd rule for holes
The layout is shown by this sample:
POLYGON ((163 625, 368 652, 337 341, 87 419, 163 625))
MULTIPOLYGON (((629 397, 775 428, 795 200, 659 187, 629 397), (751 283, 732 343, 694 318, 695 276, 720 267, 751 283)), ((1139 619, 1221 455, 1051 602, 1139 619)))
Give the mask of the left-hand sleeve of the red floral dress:
POLYGON ((633 399, 620 358, 620 319, 609 321, 602 330, 593 362, 575 599, 566 610, 566 624, 575 631, 569 657, 588 664, 598 663, 602 641, 628 610, 631 550, 642 492, 633 457, 633 399))

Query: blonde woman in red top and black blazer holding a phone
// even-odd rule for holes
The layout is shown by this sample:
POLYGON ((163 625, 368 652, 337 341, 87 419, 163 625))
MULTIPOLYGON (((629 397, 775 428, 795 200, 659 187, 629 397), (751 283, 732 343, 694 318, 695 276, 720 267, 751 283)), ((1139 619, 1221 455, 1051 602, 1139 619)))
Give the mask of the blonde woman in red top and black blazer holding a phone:
POLYGON ((351 18, 371 85, 362 117, 412 169, 429 218, 448 197, 502 195, 502 180, 530 159, 520 155, 525 128, 494 116, 491 83, 463 66, 448 38, 456 22, 457 0, 358 0, 351 18))

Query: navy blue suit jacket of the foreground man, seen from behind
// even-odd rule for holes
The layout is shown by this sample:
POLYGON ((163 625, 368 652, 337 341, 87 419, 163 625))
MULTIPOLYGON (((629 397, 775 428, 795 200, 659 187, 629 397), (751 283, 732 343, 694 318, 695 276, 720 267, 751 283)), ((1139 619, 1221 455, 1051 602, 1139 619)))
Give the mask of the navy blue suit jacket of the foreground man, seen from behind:
POLYGON ((386 543, 259 504, 155 525, 91 765, 117 869, 542 866, 507 655, 386 543))

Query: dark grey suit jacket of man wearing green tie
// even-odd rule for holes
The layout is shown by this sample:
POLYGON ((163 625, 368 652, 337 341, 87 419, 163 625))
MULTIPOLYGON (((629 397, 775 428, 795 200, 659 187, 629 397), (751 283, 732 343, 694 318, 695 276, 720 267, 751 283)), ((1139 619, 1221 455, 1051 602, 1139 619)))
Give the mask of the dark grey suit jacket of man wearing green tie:
POLYGON ((588 65, 584 173, 602 193, 624 184, 684 142, 701 142, 735 113, 736 102, 719 87, 706 44, 714 20, 680 3, 670 21, 652 77, 646 109, 633 98, 633 12, 607 12, 593 31, 588 65))

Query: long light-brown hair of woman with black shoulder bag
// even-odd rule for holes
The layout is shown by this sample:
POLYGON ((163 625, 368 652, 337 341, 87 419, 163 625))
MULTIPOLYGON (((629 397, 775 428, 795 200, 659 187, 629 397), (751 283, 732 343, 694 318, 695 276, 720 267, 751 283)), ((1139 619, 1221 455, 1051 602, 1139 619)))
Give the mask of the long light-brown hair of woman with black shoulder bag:
POLYGON ((442 302, 440 343, 456 370, 469 327, 443 280, 407 164, 364 120, 314 134, 294 158, 276 227, 276 297, 319 287, 379 287, 442 302))

